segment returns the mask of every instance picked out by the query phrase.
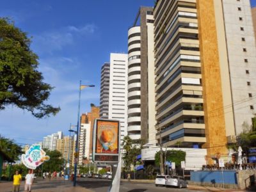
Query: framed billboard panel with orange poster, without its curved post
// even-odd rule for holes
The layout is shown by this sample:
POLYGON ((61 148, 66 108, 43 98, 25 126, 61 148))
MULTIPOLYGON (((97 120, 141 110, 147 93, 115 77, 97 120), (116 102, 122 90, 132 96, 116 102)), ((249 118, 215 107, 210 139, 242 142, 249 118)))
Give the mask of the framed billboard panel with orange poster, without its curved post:
POLYGON ((93 129, 93 161, 118 163, 120 129, 118 120, 95 119, 93 129))

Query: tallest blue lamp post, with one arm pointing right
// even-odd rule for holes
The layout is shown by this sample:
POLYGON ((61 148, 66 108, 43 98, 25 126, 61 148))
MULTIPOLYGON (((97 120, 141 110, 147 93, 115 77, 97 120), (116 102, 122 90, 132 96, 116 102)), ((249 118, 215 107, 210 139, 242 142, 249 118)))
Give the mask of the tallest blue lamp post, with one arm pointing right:
POLYGON ((86 87, 93 87, 95 85, 90 84, 90 85, 84 85, 81 84, 82 81, 79 81, 79 100, 78 100, 78 111, 77 111, 77 127, 76 127, 76 156, 75 156, 75 161, 74 161, 74 183, 73 186, 76 186, 76 175, 77 175, 77 157, 78 157, 78 137, 79 137, 79 117, 80 117, 80 100, 81 100, 81 90, 86 87))

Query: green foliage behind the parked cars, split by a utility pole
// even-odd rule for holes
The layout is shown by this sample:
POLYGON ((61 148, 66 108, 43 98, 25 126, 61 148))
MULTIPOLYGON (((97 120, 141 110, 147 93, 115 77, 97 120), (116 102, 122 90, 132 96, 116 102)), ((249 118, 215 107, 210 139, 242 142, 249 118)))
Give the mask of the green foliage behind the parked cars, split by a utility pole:
MULTIPOLYGON (((163 158, 165 156, 165 152, 163 152, 163 158)), ((185 161, 186 152, 182 150, 167 150, 166 151, 166 161, 175 162, 175 166, 180 166, 181 161, 185 161)), ((160 165, 160 151, 155 155, 155 164, 157 166, 160 165)))

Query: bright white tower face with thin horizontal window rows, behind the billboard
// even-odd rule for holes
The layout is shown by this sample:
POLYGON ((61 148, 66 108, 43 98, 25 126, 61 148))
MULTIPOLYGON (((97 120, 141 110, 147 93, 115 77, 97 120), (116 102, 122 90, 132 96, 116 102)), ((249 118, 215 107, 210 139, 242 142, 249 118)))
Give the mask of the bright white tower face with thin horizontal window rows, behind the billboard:
POLYGON ((127 135, 127 54, 110 54, 109 119, 120 120, 121 143, 127 135))

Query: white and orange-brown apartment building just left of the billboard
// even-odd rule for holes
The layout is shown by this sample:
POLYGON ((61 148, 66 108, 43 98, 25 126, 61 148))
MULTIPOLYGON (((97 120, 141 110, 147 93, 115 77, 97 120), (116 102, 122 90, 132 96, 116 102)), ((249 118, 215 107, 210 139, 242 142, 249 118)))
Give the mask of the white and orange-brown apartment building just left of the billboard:
POLYGON ((92 134, 95 118, 100 117, 100 108, 91 104, 91 111, 81 115, 79 133, 79 162, 83 163, 83 157, 92 162, 92 134))

